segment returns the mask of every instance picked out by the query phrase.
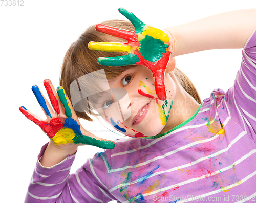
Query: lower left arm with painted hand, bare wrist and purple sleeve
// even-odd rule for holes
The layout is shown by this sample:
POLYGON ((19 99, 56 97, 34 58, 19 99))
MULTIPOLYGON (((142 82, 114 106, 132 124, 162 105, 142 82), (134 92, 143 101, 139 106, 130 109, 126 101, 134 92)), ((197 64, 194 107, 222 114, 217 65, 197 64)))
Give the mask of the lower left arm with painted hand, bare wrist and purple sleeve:
MULTIPOLYGON (((25 202, 41 202, 41 200, 58 202, 61 198, 61 202, 73 202, 72 200, 68 201, 67 198, 72 198, 69 190, 77 187, 77 182, 75 186, 69 186, 70 178, 68 177, 70 177, 69 171, 75 159, 73 154, 77 147, 79 145, 94 145, 113 149, 115 144, 112 141, 97 138, 81 126, 63 88, 59 87, 56 93, 50 80, 45 80, 44 84, 53 109, 36 85, 32 87, 32 91, 45 112, 46 120, 32 114, 23 106, 19 108, 51 139, 48 145, 42 147, 38 156, 25 202), (63 200, 63 198, 66 199, 63 200)), ((73 178, 73 180, 75 179, 73 178)), ((90 183, 89 180, 87 182, 90 183)), ((96 195, 99 193, 99 190, 95 192, 96 195)))

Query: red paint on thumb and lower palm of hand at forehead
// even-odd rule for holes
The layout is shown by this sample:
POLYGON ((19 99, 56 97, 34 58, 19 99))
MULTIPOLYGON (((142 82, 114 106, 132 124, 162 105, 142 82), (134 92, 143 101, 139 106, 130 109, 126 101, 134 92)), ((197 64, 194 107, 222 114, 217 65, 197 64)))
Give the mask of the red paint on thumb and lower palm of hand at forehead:
POLYGON ((154 83, 155 83, 155 90, 157 97, 160 100, 166 99, 166 92, 165 92, 165 85, 164 85, 164 75, 165 75, 165 69, 169 62, 170 57, 170 51, 167 51, 166 53, 162 53, 161 60, 158 60, 155 63, 152 63, 150 61, 147 61, 144 59, 144 57, 141 55, 141 53, 136 49, 134 51, 134 54, 136 54, 140 61, 137 62, 137 65, 144 65, 148 67, 148 69, 151 70, 154 77, 154 83))

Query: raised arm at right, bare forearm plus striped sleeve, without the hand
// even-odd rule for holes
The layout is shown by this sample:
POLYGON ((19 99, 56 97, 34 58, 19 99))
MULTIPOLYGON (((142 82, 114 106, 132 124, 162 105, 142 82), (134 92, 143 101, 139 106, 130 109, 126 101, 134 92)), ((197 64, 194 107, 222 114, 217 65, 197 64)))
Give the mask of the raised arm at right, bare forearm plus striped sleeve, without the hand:
POLYGON ((209 49, 244 48, 234 85, 223 99, 229 117, 256 142, 256 9, 237 10, 170 27, 172 57, 209 49), (253 32, 254 31, 254 32, 253 32))

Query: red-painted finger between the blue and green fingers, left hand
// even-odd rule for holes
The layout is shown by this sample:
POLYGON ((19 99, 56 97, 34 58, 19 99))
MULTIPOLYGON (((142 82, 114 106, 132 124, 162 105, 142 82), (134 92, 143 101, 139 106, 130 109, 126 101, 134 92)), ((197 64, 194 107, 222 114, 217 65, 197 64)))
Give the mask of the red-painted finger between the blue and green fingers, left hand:
POLYGON ((48 93, 48 96, 50 98, 53 109, 59 115, 60 114, 60 108, 59 108, 60 101, 57 100, 58 95, 57 95, 55 89, 53 88, 51 80, 48 80, 48 79, 44 80, 44 85, 45 85, 46 91, 48 93))

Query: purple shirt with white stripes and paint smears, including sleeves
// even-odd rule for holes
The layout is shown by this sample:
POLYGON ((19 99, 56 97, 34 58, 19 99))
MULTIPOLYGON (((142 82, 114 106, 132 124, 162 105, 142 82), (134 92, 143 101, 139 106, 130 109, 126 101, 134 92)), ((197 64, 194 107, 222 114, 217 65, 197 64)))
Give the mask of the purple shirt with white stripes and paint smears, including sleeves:
POLYGON ((256 201, 255 32, 242 54, 233 87, 164 136, 117 140, 75 174, 75 155, 50 168, 38 160, 25 202, 256 201))

